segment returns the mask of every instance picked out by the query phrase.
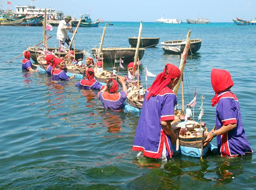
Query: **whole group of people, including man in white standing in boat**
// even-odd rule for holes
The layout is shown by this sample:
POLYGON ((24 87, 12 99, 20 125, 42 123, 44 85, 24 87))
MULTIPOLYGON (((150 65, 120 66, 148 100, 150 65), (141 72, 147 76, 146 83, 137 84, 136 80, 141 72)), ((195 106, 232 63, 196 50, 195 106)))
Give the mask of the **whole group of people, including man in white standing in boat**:
MULTIPOLYGON (((59 50, 61 50, 65 42, 70 45, 67 31, 74 33, 72 26, 69 24, 71 16, 67 15, 64 18, 59 24, 57 32, 59 50)), ((70 60, 74 59, 72 51, 69 51, 67 56, 70 60)), ((24 52, 24 57, 23 71, 33 72, 29 51, 24 52)), ((54 55, 47 55, 45 60, 48 64, 47 73, 52 75, 53 80, 74 78, 74 76, 68 77, 64 71, 65 58, 60 59, 54 55)), ((137 82, 141 80, 140 75, 134 73, 134 63, 130 63, 127 66, 128 75, 125 77, 117 76, 122 85, 122 90, 118 92, 119 85, 115 79, 111 78, 106 85, 102 85, 94 78, 95 71, 102 71, 102 62, 94 64, 93 59, 88 57, 86 58, 86 65, 83 66, 80 62, 78 66, 79 68, 86 68, 86 74, 83 79, 76 83, 76 86, 86 90, 100 90, 97 98, 101 100, 105 108, 111 110, 124 108, 124 101, 128 93, 125 81, 129 81, 132 78, 136 78, 137 82)), ((114 70, 113 73, 116 74, 114 70)), ((174 154, 172 145, 175 145, 177 141, 177 134, 172 129, 172 121, 175 120, 175 106, 177 105, 177 96, 173 89, 180 77, 179 68, 168 63, 163 71, 156 76, 152 86, 146 89, 145 94, 141 94, 141 98, 144 101, 132 148, 134 151, 139 151, 137 156, 163 160, 172 158, 174 154)), ((253 153, 242 125, 238 98, 230 90, 234 85, 230 73, 226 70, 212 69, 211 85, 215 91, 215 96, 211 100, 212 106, 214 107, 217 104, 216 124, 214 128, 205 133, 204 146, 207 146, 212 139, 217 138, 219 155, 221 156, 236 157, 253 153)), ((189 110, 187 111, 188 119, 191 116, 189 110)))

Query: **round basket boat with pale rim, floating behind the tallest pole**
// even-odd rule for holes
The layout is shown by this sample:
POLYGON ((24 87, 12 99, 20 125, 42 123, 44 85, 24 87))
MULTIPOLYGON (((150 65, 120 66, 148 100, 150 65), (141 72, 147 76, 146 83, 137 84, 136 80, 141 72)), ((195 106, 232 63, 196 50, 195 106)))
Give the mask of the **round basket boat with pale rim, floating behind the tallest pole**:
MULTIPOLYGON (((194 39, 191 40, 190 46, 189 46, 189 53, 195 53, 197 52, 201 47, 201 39, 194 39)), ((171 54, 180 54, 183 52, 186 40, 172 40, 172 41, 166 41, 161 42, 162 48, 165 52, 171 53, 171 54)))

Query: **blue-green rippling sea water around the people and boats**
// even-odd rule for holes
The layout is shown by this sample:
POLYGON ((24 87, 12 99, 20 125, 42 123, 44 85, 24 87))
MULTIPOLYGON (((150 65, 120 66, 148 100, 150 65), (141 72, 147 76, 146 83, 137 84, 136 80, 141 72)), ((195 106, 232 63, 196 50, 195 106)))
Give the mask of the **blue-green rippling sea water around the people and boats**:
MULTIPOLYGON (((137 37, 139 22, 113 22, 107 26, 103 47, 129 47, 137 37)), ((233 23, 162 24, 142 22, 142 37, 160 42, 202 39, 197 53, 189 55, 184 70, 185 104, 197 89, 195 119, 201 96, 209 130, 215 125, 210 100, 212 68, 228 70, 234 81, 242 121, 251 148, 256 150, 256 26, 233 23)), ((74 46, 91 53, 99 47, 104 24, 79 28, 74 46)), ((49 47, 58 47, 56 30, 48 32, 49 47)), ((45 73, 22 72, 27 46, 43 40, 42 27, 0 26, 0 189, 254 189, 254 154, 237 158, 207 155, 202 160, 175 156, 169 162, 137 158, 132 151, 140 113, 102 108, 97 91, 80 90, 79 80, 52 82, 45 73)), ((69 33, 70 38, 72 34, 69 33)), ((161 44, 147 48, 140 74, 145 88, 145 68, 160 73, 166 63, 179 66, 180 55, 164 53, 161 44)), ((112 70, 114 63, 105 63, 112 70)), ((115 65, 118 68, 118 65, 115 65)), ((127 67, 127 65, 124 65, 127 67)), ((120 69, 125 75, 127 70, 120 69)), ((148 78, 148 86, 154 77, 148 78)), ((181 108, 181 93, 178 93, 181 108)), ((154 109, 154 107, 152 107, 154 109)), ((216 139, 212 141, 216 144, 216 139)))

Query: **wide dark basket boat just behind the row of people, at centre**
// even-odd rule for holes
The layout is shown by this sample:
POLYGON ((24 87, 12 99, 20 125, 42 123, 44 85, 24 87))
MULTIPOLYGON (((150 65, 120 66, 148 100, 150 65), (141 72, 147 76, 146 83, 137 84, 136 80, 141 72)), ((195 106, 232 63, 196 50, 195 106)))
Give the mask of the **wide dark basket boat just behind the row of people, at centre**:
MULTIPOLYGON (((95 57, 97 54, 98 48, 92 48, 92 53, 95 57)), ((123 60, 124 63, 130 63, 134 61, 136 48, 132 47, 106 47, 102 48, 102 55, 104 62, 114 63, 115 57, 116 60, 123 60)), ((139 60, 143 58, 144 48, 139 48, 139 60)))

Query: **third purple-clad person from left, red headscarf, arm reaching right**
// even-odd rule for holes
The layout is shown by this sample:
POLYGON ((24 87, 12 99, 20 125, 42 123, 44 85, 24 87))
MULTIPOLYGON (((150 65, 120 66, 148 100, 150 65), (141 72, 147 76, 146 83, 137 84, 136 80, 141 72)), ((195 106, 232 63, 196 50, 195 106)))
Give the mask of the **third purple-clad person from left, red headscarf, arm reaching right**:
POLYGON ((55 58, 53 68, 56 68, 52 74, 53 80, 69 80, 71 78, 75 78, 74 75, 68 77, 66 72, 63 70, 65 69, 65 60, 55 58))

